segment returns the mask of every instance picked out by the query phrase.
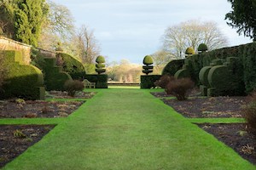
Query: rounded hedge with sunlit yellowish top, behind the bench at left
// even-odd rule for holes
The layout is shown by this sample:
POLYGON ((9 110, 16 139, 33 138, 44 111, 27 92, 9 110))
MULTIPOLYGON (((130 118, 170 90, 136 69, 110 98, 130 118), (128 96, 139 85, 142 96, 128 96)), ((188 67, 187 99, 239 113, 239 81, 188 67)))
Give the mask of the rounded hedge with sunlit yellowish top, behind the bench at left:
POLYGON ((63 71, 67 72, 75 80, 83 80, 85 76, 84 65, 73 56, 64 53, 56 54, 56 58, 63 59, 63 71))

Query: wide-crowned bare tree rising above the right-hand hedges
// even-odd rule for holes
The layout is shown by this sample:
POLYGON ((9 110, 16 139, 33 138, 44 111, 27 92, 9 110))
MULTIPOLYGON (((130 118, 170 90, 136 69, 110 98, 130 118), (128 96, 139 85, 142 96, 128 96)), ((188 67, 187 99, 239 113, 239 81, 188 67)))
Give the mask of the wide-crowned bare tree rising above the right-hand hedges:
POLYGON ((177 59, 183 58, 186 48, 196 50, 200 43, 206 43, 212 50, 227 46, 228 41, 212 21, 189 20, 166 28, 163 35, 163 49, 177 59))

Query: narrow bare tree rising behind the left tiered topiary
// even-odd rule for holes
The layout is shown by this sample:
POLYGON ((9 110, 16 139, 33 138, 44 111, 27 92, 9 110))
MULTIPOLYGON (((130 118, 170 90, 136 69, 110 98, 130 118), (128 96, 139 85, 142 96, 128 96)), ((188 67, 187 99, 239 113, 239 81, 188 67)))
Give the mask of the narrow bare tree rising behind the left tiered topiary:
POLYGON ((88 26, 81 26, 73 37, 73 46, 76 55, 82 59, 83 63, 87 64, 94 63, 101 51, 94 36, 94 31, 91 31, 88 26))

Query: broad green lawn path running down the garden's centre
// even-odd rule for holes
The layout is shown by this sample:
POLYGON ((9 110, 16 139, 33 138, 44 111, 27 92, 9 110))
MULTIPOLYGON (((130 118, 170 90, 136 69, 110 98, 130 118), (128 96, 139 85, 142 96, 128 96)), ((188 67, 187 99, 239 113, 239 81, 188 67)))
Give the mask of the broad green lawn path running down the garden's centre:
POLYGON ((256 167, 147 90, 106 89, 3 169, 255 170, 256 167))

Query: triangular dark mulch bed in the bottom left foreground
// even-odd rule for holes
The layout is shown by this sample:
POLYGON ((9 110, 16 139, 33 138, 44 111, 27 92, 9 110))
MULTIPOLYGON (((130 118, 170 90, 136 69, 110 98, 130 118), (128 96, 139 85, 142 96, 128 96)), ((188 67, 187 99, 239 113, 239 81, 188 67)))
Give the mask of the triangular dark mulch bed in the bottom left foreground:
POLYGON ((15 159, 32 144, 37 143, 54 125, 0 125, 0 168, 15 159), (15 137, 18 131, 24 133, 23 138, 15 137))

